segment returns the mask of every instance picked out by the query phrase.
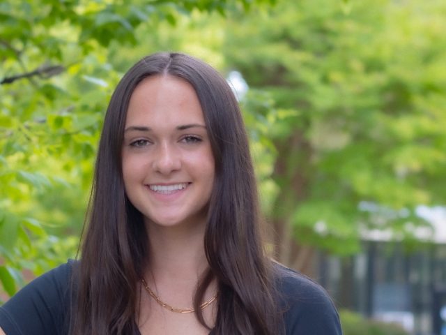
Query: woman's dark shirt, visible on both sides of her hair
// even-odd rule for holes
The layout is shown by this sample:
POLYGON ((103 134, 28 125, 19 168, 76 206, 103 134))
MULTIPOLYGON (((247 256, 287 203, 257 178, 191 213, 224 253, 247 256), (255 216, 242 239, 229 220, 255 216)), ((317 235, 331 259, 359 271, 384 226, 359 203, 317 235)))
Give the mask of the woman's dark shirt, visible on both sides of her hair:
MULTIPOLYGON (((73 263, 36 278, 0 307, 0 327, 6 335, 68 333, 73 263)), ((325 290, 295 271, 280 266, 277 270, 286 335, 341 335, 339 316, 325 290)))

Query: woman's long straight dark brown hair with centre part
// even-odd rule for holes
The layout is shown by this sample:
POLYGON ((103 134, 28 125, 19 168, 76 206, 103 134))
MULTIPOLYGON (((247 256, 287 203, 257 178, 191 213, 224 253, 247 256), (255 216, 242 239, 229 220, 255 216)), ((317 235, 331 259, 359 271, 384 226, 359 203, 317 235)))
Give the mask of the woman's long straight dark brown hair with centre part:
POLYGON ((211 334, 280 334, 272 265, 259 233, 256 180, 238 103, 214 68, 178 53, 141 59, 112 95, 99 143, 81 260, 74 269, 70 334, 137 334, 137 288, 148 258, 148 239, 141 214, 125 195, 121 146, 130 96, 151 75, 180 77, 194 87, 215 158, 204 237, 210 267, 195 293, 197 318, 208 327, 199 304, 215 278, 219 298, 211 334))

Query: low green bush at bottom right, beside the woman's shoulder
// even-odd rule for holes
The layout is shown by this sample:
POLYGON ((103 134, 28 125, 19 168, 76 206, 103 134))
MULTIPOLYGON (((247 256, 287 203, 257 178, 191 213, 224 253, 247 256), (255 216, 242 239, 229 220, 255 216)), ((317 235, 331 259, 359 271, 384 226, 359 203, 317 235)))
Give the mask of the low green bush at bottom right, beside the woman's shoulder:
POLYGON ((399 325, 367 320, 351 311, 340 311, 341 325, 344 335, 408 335, 399 325))

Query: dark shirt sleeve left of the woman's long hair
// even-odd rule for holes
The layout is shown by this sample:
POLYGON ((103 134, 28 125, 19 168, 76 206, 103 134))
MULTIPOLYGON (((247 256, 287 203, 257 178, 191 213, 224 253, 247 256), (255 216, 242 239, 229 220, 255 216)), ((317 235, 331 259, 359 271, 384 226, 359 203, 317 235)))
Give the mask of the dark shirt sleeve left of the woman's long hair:
POLYGON ((72 261, 34 279, 0 307, 6 335, 64 334, 72 261))

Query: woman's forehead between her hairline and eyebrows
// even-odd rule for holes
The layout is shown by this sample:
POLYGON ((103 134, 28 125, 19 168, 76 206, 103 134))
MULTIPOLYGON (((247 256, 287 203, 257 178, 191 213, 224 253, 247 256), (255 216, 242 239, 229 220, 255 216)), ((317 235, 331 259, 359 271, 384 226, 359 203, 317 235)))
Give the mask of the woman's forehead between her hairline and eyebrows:
POLYGON ((203 111, 192 85, 171 75, 156 75, 142 80, 130 97, 129 122, 201 121, 203 111))

